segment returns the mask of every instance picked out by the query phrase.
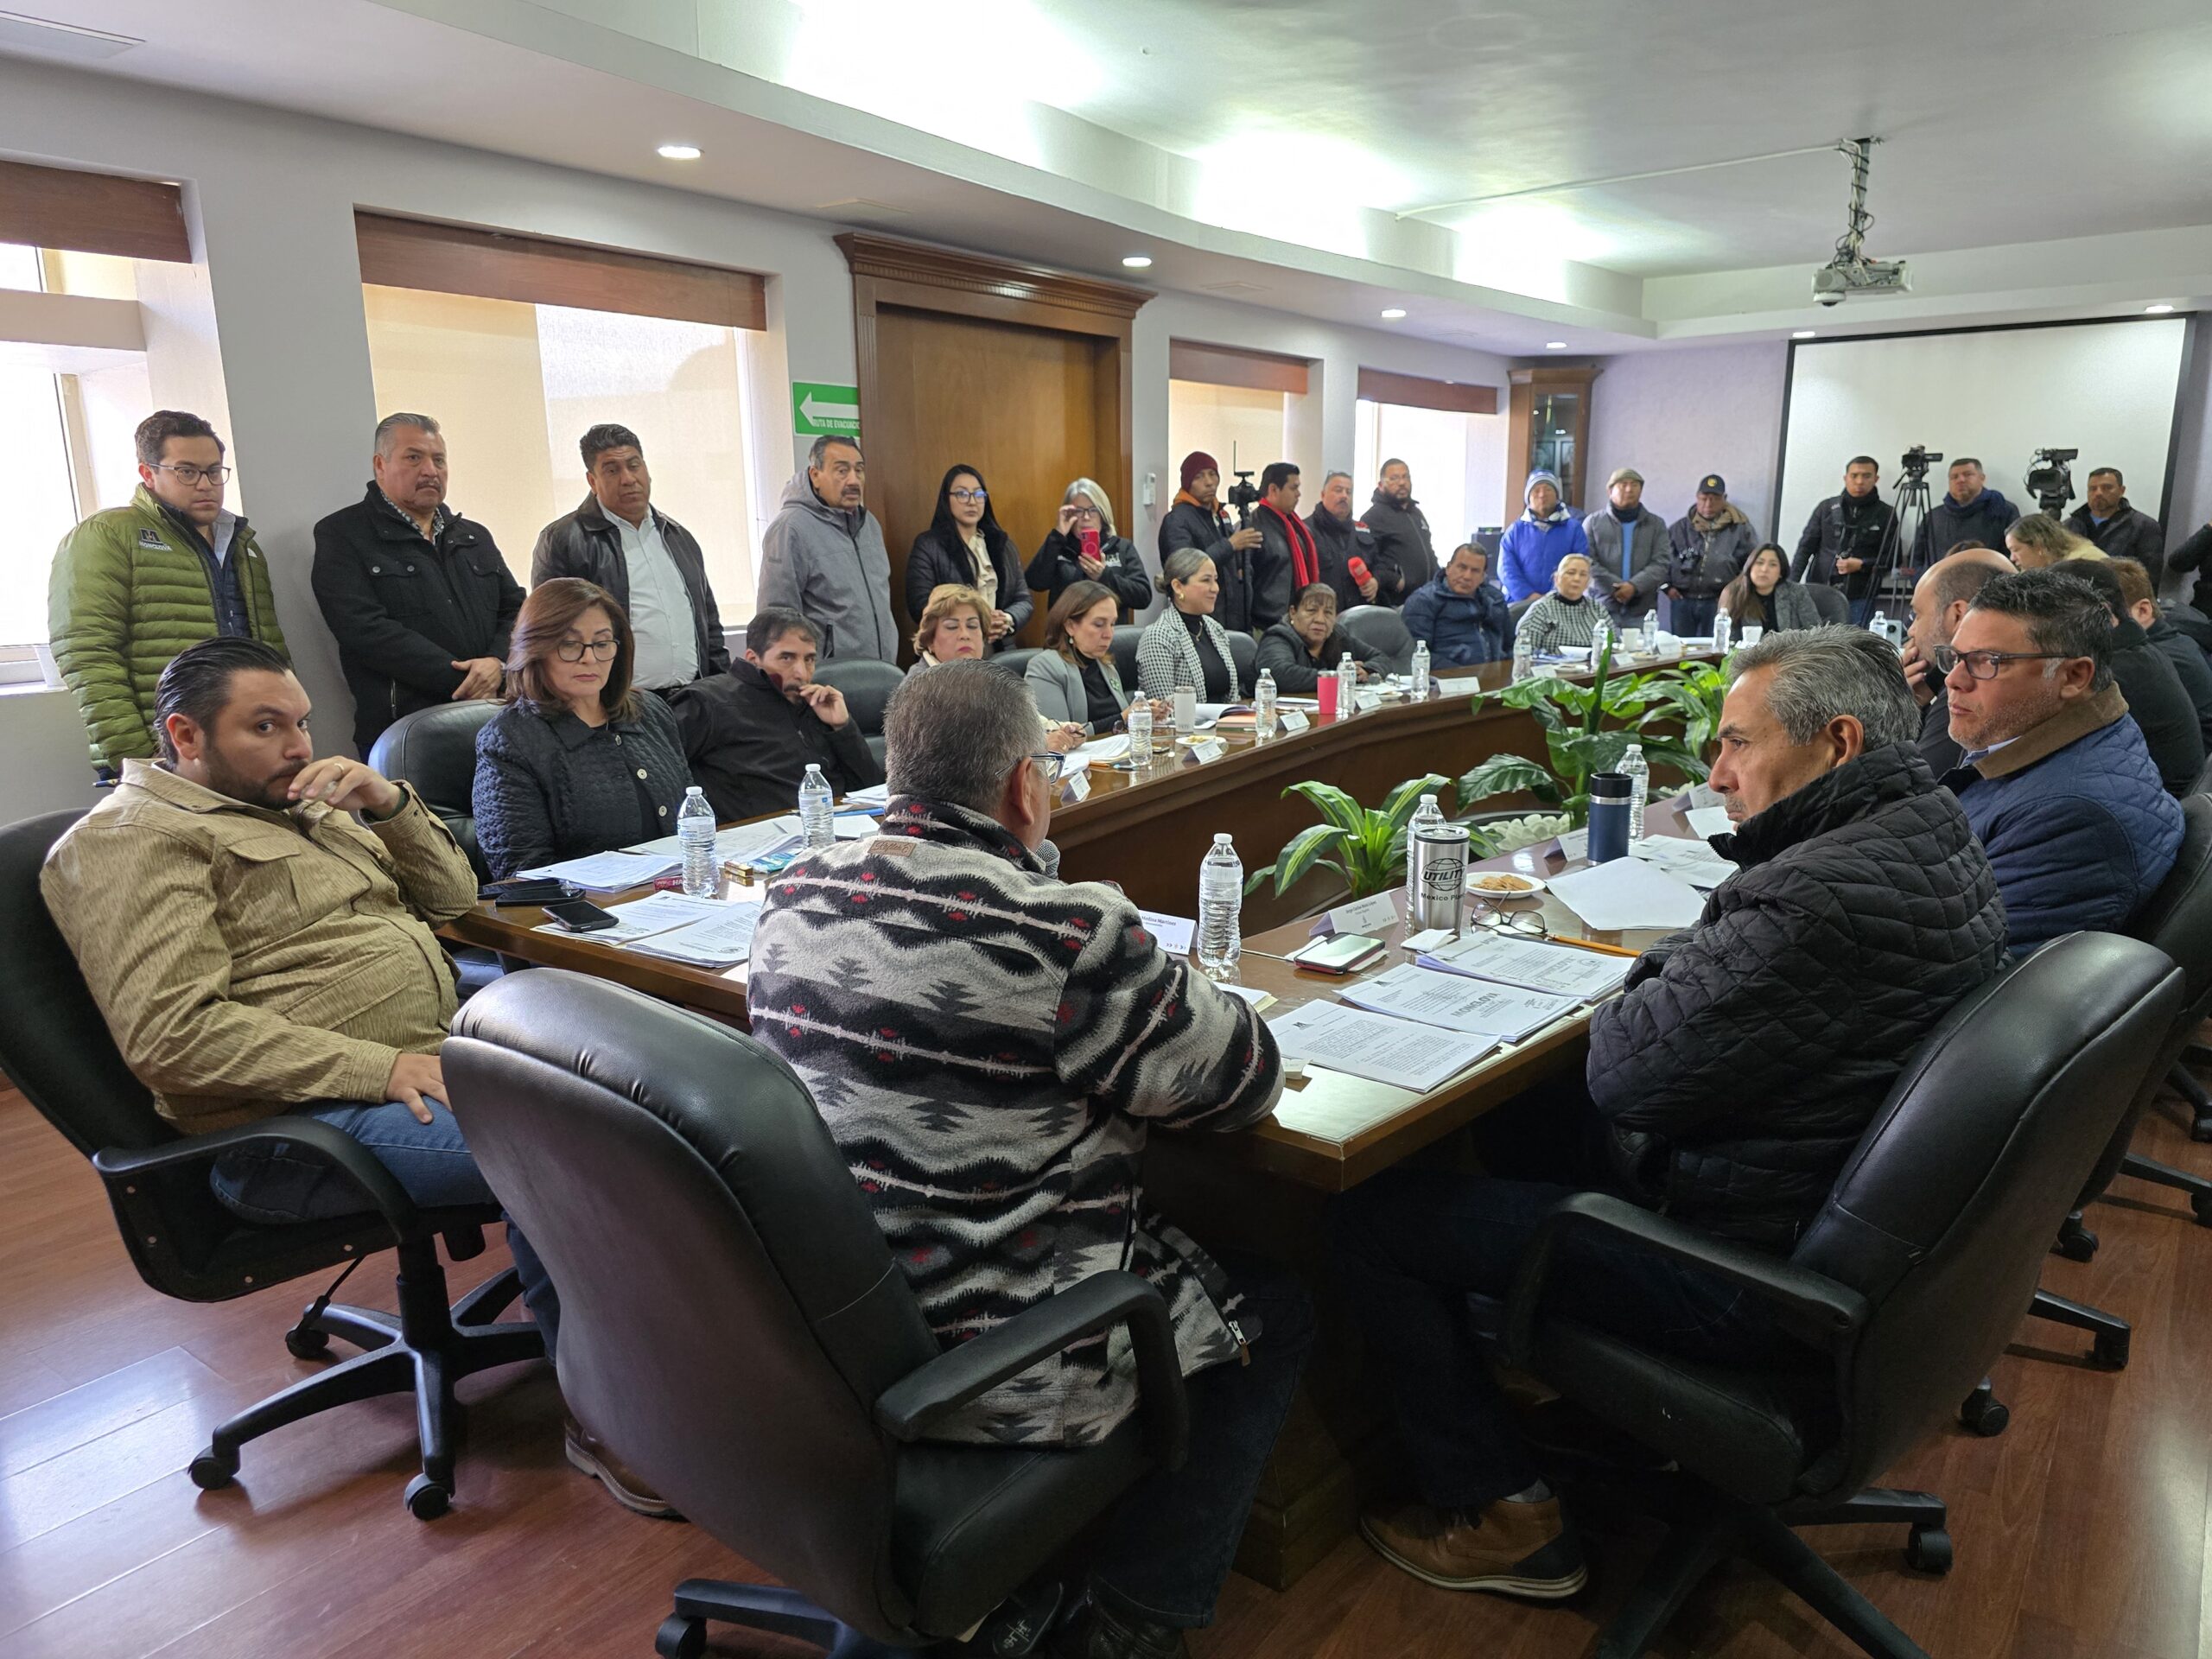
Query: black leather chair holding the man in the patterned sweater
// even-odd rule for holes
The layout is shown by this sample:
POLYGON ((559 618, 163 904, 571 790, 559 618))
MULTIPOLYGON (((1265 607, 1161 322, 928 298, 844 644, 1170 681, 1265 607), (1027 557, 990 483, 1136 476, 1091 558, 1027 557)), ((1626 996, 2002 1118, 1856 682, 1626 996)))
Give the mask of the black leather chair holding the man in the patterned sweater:
POLYGON ((1093 1274, 940 1352, 805 1086, 752 1037, 540 969, 476 998, 442 1060, 469 1146, 560 1285, 568 1407, 792 1586, 686 1582, 661 1655, 699 1655, 708 1619, 847 1659, 956 1637, 1155 1462, 1181 1462, 1152 1285, 1093 1274), (1141 1407, 1099 1444, 922 1440, 1115 1325, 1141 1407))

